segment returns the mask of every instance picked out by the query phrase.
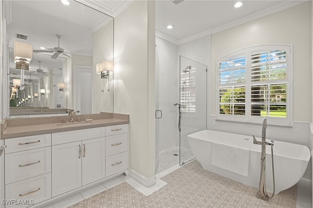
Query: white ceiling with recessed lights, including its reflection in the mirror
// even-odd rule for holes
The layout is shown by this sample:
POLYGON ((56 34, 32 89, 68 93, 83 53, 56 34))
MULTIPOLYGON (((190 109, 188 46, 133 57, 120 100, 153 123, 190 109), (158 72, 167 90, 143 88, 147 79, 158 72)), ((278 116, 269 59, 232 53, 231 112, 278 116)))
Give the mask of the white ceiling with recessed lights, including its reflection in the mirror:
MULTIPOLYGON (((77 1, 96 7, 111 17, 118 15, 133 2, 133 0, 77 1)), ((156 35, 175 44, 181 44, 305 1, 245 0, 244 5, 236 9, 233 7, 235 0, 184 0, 179 4, 171 0, 156 0, 156 35), (173 24, 174 28, 166 29, 168 24, 173 24)), ((111 19, 73 0, 70 0, 69 6, 63 5, 60 0, 4 2, 11 2, 5 10, 6 16, 9 17, 7 32, 11 47, 17 33, 28 36, 26 42, 31 43, 33 49, 39 49, 40 46, 57 47, 58 39, 55 35, 60 34, 63 36, 60 47, 64 48, 65 52, 92 55, 92 32, 101 26, 99 23, 111 19)), ((61 63, 52 66, 55 62, 49 57, 45 56, 44 59, 43 55, 34 54, 31 70, 39 68, 38 60, 42 61, 42 69, 62 67, 61 63)))

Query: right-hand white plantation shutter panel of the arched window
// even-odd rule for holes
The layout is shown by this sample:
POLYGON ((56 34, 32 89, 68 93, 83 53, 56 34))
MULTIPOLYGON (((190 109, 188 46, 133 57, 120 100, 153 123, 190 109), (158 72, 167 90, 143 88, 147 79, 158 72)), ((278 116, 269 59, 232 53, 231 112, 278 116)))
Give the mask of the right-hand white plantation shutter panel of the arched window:
POLYGON ((251 116, 286 118, 286 51, 251 54, 251 116))

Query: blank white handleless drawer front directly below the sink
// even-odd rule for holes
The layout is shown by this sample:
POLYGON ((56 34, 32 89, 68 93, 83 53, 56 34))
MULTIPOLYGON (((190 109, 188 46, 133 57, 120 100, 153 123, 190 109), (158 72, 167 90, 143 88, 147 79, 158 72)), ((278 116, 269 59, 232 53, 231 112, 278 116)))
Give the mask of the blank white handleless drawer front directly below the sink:
POLYGON ((105 130, 105 127, 97 127, 52 133, 52 145, 104 137, 105 130))

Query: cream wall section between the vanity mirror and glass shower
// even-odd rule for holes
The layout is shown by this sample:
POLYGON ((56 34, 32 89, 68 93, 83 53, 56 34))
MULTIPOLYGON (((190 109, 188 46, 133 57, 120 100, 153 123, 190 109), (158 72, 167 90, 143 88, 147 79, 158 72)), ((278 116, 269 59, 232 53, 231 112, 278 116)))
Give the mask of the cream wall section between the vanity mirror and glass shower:
POLYGON ((129 166, 146 178, 155 175, 154 6, 135 0, 114 19, 114 113, 130 115, 129 166))

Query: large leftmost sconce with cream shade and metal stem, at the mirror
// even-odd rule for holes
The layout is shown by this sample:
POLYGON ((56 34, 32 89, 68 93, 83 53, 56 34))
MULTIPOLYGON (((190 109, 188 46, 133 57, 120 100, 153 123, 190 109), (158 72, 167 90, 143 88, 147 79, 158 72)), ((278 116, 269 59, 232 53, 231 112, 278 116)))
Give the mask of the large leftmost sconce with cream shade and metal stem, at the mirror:
POLYGON ((28 70, 31 58, 31 44, 24 42, 14 42, 14 62, 16 63, 16 68, 21 68, 20 90, 24 89, 24 70, 28 70))

